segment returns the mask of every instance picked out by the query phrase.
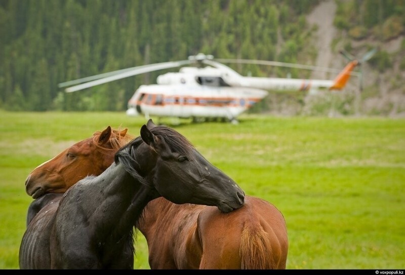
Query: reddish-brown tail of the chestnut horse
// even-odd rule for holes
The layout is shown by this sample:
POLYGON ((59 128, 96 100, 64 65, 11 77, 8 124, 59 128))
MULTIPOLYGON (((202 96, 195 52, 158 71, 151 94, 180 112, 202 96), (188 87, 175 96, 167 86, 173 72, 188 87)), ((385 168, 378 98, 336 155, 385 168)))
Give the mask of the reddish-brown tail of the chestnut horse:
POLYGON ((242 269, 275 269, 269 234, 257 223, 246 223, 242 229, 239 255, 242 269))

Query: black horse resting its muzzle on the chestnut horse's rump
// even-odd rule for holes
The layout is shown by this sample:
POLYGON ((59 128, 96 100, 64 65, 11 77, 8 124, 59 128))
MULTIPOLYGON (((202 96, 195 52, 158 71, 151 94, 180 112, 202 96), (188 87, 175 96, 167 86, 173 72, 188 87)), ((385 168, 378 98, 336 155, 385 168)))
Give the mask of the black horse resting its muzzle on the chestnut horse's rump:
MULTIPOLYGON (((149 201, 163 196, 222 212, 244 204, 237 184, 174 129, 149 120, 140 133, 99 176, 79 180, 29 221, 20 268, 133 268, 133 228, 149 201)), ((35 196, 49 186, 30 181, 29 193, 35 196)))

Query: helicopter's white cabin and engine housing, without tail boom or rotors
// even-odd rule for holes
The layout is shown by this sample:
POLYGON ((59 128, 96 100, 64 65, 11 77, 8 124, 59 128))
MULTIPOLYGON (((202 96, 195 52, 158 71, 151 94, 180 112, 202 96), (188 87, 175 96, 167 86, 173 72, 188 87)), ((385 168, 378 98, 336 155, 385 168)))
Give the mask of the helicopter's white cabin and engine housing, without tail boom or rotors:
POLYGON ((231 87, 224 78, 234 82, 240 75, 212 67, 183 67, 180 72, 161 74, 157 84, 141 85, 136 90, 128 102, 127 114, 232 121, 268 94, 251 87, 231 87))

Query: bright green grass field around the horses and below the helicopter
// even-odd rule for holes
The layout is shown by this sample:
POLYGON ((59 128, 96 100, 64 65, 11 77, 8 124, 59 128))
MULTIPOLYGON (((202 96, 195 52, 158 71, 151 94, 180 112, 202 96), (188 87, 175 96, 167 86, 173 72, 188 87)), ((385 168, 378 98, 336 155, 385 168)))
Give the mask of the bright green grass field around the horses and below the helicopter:
MULTIPOLYGON (((29 172, 108 125, 138 136, 146 120, 108 112, 0 116, 0 268, 18 269, 29 172)), ((405 268, 405 120, 245 115, 238 125, 171 127, 284 214, 288 269, 405 268)), ((135 268, 149 269, 142 235, 136 251, 135 268)))

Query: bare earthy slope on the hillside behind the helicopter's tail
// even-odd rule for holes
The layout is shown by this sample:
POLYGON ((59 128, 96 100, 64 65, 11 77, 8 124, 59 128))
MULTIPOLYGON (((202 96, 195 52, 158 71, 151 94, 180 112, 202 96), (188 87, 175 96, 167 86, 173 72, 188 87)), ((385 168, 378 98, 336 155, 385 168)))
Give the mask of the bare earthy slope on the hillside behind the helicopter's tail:
MULTIPOLYGON (((358 78, 352 77, 348 86, 342 91, 343 95, 340 99, 333 100, 338 101, 337 105, 347 105, 350 101, 354 101, 355 103, 352 104, 354 110, 348 112, 355 114, 405 117, 405 70, 401 65, 405 58, 405 37, 399 35, 386 41, 381 41, 377 37, 353 40, 347 33, 337 30, 334 26, 336 10, 336 2, 326 0, 317 5, 307 16, 308 24, 317 26, 317 31, 313 35, 313 44, 318 49, 316 66, 342 68, 347 59, 342 57, 339 51, 345 45, 350 45, 352 48, 350 53, 359 59, 371 48, 377 47, 380 52, 387 54, 391 63, 388 68, 379 70, 376 64, 366 62, 361 67, 363 71, 361 94, 358 78)), ((359 69, 360 66, 357 70, 359 69)), ((319 71, 313 72, 311 76, 320 79, 328 77, 325 72, 319 71)), ((341 106, 341 108, 344 107, 341 106)), ((342 113, 342 110, 338 110, 338 113, 342 113)))

